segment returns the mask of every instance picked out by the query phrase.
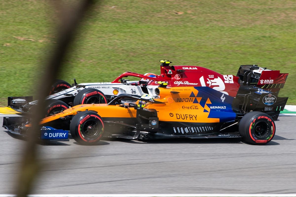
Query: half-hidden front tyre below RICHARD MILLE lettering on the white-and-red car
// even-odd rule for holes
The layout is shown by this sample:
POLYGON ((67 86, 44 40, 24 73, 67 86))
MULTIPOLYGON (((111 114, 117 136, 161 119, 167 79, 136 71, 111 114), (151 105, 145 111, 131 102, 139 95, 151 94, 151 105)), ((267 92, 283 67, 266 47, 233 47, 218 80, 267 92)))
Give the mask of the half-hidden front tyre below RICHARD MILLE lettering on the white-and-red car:
POLYGON ((98 89, 85 88, 77 93, 73 101, 73 106, 91 103, 107 103, 107 97, 98 89))

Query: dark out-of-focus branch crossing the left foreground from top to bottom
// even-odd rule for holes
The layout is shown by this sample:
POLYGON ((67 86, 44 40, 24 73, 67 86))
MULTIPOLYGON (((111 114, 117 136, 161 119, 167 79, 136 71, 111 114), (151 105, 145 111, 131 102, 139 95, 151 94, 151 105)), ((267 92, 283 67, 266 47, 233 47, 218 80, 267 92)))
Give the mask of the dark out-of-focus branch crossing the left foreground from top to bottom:
MULTIPOLYGON (((38 84, 38 92, 36 97, 39 101, 45 100, 50 89, 50 84, 54 82, 55 76, 62 69, 62 59, 68 51, 69 44, 73 40, 76 30, 83 19, 86 12, 91 10, 93 0, 78 1, 75 6, 60 6, 60 1, 51 1, 59 14, 59 25, 57 27, 57 41, 53 52, 46 61, 45 72, 38 84)), ((18 177, 17 187, 15 193, 18 197, 27 196, 33 188, 35 178, 40 172, 41 165, 38 163, 37 152, 37 133, 40 130, 39 121, 42 118, 43 102, 38 102, 37 108, 32 117, 32 129, 30 130, 30 137, 28 143, 24 148, 24 153, 21 161, 20 174, 18 177)))

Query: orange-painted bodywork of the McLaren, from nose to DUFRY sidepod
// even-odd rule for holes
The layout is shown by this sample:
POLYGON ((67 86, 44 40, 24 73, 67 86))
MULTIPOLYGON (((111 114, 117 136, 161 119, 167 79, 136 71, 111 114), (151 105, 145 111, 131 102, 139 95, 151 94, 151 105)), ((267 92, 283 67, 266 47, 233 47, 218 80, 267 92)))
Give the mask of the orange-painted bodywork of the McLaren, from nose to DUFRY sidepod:
MULTIPOLYGON (((211 104, 209 98, 205 102, 204 107, 200 105, 202 97, 192 97, 191 95, 197 95, 198 90, 194 87, 162 87, 159 89, 159 98, 156 101, 163 102, 156 104, 148 102, 144 109, 155 109, 159 121, 170 122, 196 122, 196 123, 217 123, 219 118, 208 118, 210 108, 207 104, 211 104), (192 101, 196 99, 197 102, 192 101)), ((138 102, 138 101, 137 101, 138 102)), ((137 103, 136 102, 136 103, 137 103)), ((76 115, 80 111, 96 111, 103 119, 108 118, 136 118, 137 110, 133 107, 120 107, 120 105, 108 105, 108 104, 85 104, 76 105, 72 108, 64 110, 61 113, 49 116, 41 120, 40 124, 44 124, 50 121, 54 121, 58 118, 68 115, 76 115)), ((128 105, 128 104, 126 104, 128 105)))

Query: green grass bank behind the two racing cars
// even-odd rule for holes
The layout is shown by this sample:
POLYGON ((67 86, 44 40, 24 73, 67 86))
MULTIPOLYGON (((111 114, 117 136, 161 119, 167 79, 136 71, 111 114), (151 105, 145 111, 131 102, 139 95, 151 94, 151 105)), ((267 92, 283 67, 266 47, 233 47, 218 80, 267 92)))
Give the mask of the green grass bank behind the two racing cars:
MULTIPOLYGON (((258 64, 289 73, 280 96, 295 105, 295 10, 295 0, 100 1, 57 78, 82 83, 112 81, 124 71, 159 74, 161 59, 234 75, 241 64, 258 64)), ((59 14, 50 0, 0 1, 0 106, 8 96, 36 93, 59 14)))

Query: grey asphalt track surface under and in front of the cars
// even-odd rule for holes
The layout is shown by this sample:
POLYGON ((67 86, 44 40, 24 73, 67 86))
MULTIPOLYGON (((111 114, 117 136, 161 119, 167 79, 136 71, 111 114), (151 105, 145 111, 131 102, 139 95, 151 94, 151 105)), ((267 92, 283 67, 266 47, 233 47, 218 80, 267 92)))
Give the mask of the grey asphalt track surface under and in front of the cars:
MULTIPOLYGON (((280 116, 265 146, 233 139, 39 144, 43 168, 32 194, 295 194, 295 122, 280 116)), ((0 138, 0 194, 13 194, 26 142, 2 127, 0 138)))

